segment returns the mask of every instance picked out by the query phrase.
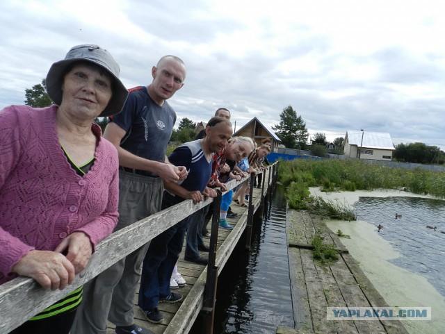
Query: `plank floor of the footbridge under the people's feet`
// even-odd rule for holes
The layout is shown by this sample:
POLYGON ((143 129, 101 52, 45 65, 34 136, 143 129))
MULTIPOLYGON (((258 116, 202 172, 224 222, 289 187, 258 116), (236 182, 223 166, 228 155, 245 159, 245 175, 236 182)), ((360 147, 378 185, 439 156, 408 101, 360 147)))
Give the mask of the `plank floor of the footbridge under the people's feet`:
MULTIPOLYGON (((270 171, 272 171, 270 169, 270 171)), ((261 208, 261 193, 264 194, 263 197, 268 193, 268 180, 272 181, 268 177, 268 172, 265 176, 265 185, 262 188, 253 188, 252 197, 252 212, 257 212, 261 208)), ((269 182, 270 182, 269 181, 269 182)), ((246 201, 248 203, 248 201, 246 201)), ((236 203, 232 202, 231 208, 234 212, 238 214, 236 219, 227 219, 229 224, 234 226, 232 230, 226 230, 225 228, 218 229, 217 238, 217 251, 215 266, 218 276, 223 270, 225 263, 232 254, 235 245, 240 242, 241 236, 243 235, 246 226, 248 225, 248 211, 249 208, 241 208, 236 203)), ((210 219, 207 227, 211 231, 212 221, 210 219)), ((204 237, 205 244, 209 245, 210 237, 204 237)), ((241 240, 245 242, 245 239, 241 240)), ((134 297, 134 310, 135 310, 135 323, 148 328, 155 334, 184 334, 188 333, 193 326, 195 319, 200 314, 203 308, 204 301, 204 287, 207 280, 207 266, 197 265, 193 262, 188 262, 184 260, 184 248, 179 256, 178 271, 186 280, 187 284, 184 287, 179 287, 174 292, 184 295, 184 299, 179 303, 159 303, 159 310, 164 316, 163 321, 160 324, 152 324, 148 322, 143 314, 143 311, 138 307, 138 291, 139 287, 136 289, 136 296, 134 297)), ((203 256, 207 257, 207 253, 202 253, 203 256)), ((107 334, 114 334, 115 326, 111 323, 108 324, 107 334)), ((204 333, 204 331, 203 331, 204 333)))

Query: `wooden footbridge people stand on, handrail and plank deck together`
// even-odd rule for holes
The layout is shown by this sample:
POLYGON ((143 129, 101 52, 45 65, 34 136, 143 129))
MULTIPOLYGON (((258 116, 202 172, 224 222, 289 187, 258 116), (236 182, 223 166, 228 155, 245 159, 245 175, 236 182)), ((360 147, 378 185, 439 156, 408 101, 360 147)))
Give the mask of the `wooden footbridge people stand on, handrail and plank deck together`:
MULTIPOLYGON (((264 200, 273 190, 276 167, 277 164, 271 165, 262 173, 261 188, 253 187, 254 176, 244 178, 238 183, 236 181, 227 183, 227 189, 231 190, 240 183, 250 182, 248 208, 232 205, 232 210, 238 213, 238 217, 229 219, 229 224, 234 224, 234 229, 230 231, 218 228, 219 210, 213 212, 211 237, 206 237, 210 245, 209 265, 186 262, 183 257, 184 252, 181 253, 179 272, 187 281, 187 285, 178 290, 184 295, 183 301, 160 303, 159 309, 163 312, 165 319, 161 324, 152 324, 147 322, 142 310, 136 305, 138 301, 136 295, 134 299, 136 324, 149 328, 156 334, 184 334, 190 331, 195 319, 201 313, 203 315, 202 333, 212 333, 218 275, 238 242, 245 242, 245 248, 250 249, 254 213, 262 213, 264 200), (241 240, 243 233, 245 233, 245 240, 241 240)), ((178 203, 106 237, 97 245, 88 267, 76 276, 72 285, 63 291, 44 290, 33 279, 25 277, 15 278, 13 281, 0 285, 0 333, 12 331, 170 226, 207 206, 211 201, 215 201, 214 206, 219 208, 220 197, 219 192, 216 199, 207 199, 196 205, 191 200, 178 203), (133 237, 135 235, 138 237, 133 237)), ((87 300, 83 302, 88 303, 87 300)), ((113 325, 109 325, 107 334, 115 333, 113 325)))

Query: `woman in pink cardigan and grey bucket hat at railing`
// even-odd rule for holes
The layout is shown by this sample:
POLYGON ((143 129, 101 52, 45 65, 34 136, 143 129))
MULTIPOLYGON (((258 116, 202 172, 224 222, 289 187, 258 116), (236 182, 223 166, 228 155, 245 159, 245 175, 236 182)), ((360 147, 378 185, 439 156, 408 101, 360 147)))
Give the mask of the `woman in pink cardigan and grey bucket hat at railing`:
MULTIPOLYGON (((0 111, 0 284, 21 275, 63 289, 118 222, 118 154, 95 117, 127 99, 119 65, 97 45, 55 62, 47 108, 0 111)), ((81 288, 11 333, 68 333, 81 288)))

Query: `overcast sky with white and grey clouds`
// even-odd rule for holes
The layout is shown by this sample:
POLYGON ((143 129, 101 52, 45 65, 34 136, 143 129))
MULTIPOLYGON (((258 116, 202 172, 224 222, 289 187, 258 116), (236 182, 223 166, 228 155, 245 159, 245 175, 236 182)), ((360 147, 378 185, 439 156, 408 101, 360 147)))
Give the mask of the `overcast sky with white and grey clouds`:
POLYGON ((309 133, 387 132, 445 149, 445 20, 439 0, 2 0, 0 108, 51 64, 99 44, 127 87, 165 54, 186 62, 178 119, 232 111, 273 126, 292 106, 309 133))

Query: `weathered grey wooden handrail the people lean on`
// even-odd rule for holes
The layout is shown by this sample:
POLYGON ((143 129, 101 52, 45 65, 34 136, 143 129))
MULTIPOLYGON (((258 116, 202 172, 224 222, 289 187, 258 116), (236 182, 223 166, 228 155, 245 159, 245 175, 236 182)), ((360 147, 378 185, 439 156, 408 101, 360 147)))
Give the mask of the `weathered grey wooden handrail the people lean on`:
MULTIPOLYGON (((263 185, 266 182, 268 184, 273 182, 273 176, 270 178, 270 174, 275 174, 275 167, 275 165, 268 167, 269 180, 266 181, 263 177, 263 185)), ((239 182, 232 180, 227 183, 227 190, 232 190, 249 179, 253 184, 254 177, 256 176, 247 176, 239 182)), ((250 195, 250 198, 252 198, 252 193, 250 195)), ((76 290, 121 258, 149 242, 156 235, 161 234, 212 201, 213 199, 207 199, 193 204, 193 201, 186 200, 112 233, 97 244, 88 267, 77 275, 74 282, 64 290, 43 289, 32 278, 23 276, 0 285, 0 333, 9 333, 26 322, 27 319, 62 299, 66 294, 76 290)), ((220 195, 218 203, 219 201, 220 195)))

